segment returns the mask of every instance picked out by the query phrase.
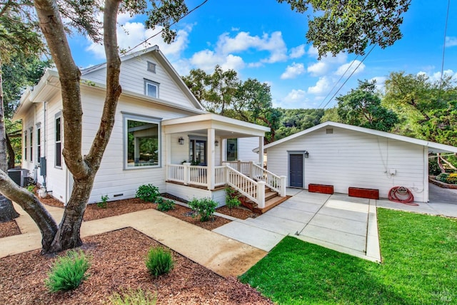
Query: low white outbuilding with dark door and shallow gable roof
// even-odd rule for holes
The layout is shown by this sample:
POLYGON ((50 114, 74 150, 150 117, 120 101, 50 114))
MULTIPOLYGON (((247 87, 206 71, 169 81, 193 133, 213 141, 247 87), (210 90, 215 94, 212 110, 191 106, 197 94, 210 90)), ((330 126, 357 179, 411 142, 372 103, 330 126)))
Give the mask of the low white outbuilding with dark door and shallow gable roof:
POLYGON ((379 190, 408 187, 417 202, 428 202, 428 153, 457 153, 449 145, 378 130, 325 122, 265 145, 267 168, 286 175, 288 187, 333 185, 379 190))

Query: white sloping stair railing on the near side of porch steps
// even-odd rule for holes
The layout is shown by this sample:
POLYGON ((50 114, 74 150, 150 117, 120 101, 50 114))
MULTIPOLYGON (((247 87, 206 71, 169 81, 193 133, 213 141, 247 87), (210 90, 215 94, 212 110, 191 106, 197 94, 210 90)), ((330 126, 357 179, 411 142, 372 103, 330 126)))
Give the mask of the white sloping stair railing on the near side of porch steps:
POLYGON ((256 202, 258 207, 265 207, 265 182, 255 181, 238 170, 226 165, 226 183, 233 189, 256 202))

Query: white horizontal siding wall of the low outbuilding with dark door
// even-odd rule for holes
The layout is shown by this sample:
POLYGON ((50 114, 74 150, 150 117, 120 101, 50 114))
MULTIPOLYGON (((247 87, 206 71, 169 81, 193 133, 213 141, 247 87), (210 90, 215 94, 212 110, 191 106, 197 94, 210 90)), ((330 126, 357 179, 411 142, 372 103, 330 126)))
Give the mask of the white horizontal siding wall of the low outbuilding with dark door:
POLYGON ((348 187, 379 190, 388 197, 391 187, 402 185, 413 192, 416 201, 424 195, 423 146, 376 135, 333 128, 321 128, 268 148, 268 170, 288 177, 288 151, 307 150, 304 159, 304 188, 309 183, 333 185, 335 192, 348 193, 348 187), (395 175, 390 175, 396 170, 395 175))

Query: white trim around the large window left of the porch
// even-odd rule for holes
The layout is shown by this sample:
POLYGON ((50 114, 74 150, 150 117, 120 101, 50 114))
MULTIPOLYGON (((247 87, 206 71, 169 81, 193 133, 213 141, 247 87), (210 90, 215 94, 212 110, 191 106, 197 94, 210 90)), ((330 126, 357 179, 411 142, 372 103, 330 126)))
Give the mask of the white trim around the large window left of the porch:
POLYGON ((124 134, 122 135, 122 140, 123 140, 123 145, 124 145, 124 156, 123 156, 123 162, 124 162, 124 170, 141 170, 141 169, 147 169, 147 168, 160 168, 162 167, 162 126, 161 126, 161 120, 162 118, 156 118, 156 117, 149 117, 149 116, 143 116, 143 115, 135 115, 133 113, 124 113, 123 114, 123 129, 124 129, 124 134), (128 166, 127 162, 127 134, 129 131, 127 130, 127 120, 137 120, 140 122, 145 122, 145 123, 154 123, 157 124, 157 143, 158 143, 158 153, 157 153, 157 165, 146 165, 146 166, 128 166))

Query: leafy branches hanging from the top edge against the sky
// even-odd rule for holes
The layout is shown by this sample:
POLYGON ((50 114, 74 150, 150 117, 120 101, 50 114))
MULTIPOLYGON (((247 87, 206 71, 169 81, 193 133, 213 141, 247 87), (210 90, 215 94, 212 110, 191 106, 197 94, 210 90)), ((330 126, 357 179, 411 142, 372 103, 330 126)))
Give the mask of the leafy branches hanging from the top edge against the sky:
POLYGON ((306 40, 318 49, 319 57, 347 51, 363 55, 369 45, 386 48, 402 37, 402 15, 411 1, 311 1, 278 0, 293 11, 308 14, 306 40))

